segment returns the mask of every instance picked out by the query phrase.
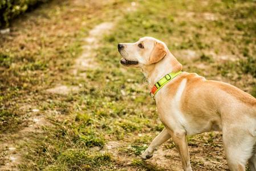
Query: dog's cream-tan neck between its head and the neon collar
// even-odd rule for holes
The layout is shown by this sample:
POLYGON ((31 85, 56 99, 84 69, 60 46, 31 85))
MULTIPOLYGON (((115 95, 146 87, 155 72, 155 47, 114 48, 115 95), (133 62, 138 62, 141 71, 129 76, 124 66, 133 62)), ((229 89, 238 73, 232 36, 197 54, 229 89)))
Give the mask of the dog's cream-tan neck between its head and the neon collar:
POLYGON ((170 52, 167 52, 166 56, 160 62, 144 66, 142 70, 148 79, 149 86, 152 87, 166 74, 181 71, 182 64, 170 52))

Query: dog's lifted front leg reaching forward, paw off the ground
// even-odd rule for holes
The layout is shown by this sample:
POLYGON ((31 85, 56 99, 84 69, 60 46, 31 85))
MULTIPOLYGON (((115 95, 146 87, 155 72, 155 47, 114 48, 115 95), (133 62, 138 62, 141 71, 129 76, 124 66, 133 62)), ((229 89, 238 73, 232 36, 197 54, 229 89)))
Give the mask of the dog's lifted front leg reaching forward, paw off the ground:
POLYGON ((170 135, 168 133, 168 130, 164 128, 158 136, 155 137, 155 139, 151 142, 151 144, 148 146, 148 148, 145 150, 143 154, 141 154, 141 157, 143 159, 148 159, 153 156, 153 153, 157 146, 161 145, 165 141, 170 139, 170 135))

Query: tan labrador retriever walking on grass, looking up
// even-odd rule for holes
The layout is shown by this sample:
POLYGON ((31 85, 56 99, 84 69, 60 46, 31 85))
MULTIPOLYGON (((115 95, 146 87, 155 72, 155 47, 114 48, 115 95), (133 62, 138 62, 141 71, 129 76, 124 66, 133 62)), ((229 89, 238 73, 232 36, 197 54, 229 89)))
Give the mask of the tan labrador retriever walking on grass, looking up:
MULTIPOLYGON (((166 74, 182 70, 165 43, 155 38, 120 43, 118 50, 123 56, 120 63, 141 68, 151 87, 166 74)), ((172 137, 183 169, 192 170, 186 135, 222 131, 230 170, 245 170, 248 160, 250 169, 256 170, 256 99, 253 96, 230 84, 182 72, 156 93, 155 100, 165 128, 142 158, 152 157, 157 146, 172 137)))

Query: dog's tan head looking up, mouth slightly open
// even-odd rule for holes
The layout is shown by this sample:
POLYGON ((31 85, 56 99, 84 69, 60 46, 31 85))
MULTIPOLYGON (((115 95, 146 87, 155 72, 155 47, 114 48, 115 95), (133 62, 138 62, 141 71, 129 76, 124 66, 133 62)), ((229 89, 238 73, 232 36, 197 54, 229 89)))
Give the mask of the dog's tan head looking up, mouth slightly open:
POLYGON ((160 40, 144 37, 135 43, 119 43, 118 51, 123 56, 120 63, 124 66, 143 67, 159 62, 168 49, 160 40))

